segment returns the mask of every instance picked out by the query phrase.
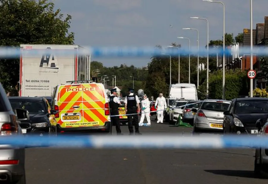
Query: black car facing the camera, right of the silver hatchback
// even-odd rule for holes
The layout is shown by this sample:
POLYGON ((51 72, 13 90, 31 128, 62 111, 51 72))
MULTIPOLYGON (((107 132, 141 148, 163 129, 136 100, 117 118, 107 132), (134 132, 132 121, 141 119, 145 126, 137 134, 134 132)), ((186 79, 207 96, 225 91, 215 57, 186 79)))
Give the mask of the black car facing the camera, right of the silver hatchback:
POLYGON ((223 113, 224 134, 258 134, 255 123, 268 115, 268 98, 235 98, 223 113))

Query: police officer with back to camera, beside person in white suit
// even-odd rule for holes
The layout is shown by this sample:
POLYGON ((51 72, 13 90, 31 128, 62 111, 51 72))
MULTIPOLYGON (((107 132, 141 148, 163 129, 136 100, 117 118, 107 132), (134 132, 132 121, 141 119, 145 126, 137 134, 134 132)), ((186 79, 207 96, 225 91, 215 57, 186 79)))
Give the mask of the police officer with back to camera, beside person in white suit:
POLYGON ((135 127, 135 134, 141 135, 139 131, 139 120, 138 114, 141 110, 140 108, 140 100, 137 95, 134 94, 134 89, 129 88, 129 95, 126 96, 125 100, 125 111, 127 114, 127 121, 128 121, 128 129, 130 135, 133 135, 133 125, 135 127), (135 114, 135 115, 128 115, 128 114, 135 114))

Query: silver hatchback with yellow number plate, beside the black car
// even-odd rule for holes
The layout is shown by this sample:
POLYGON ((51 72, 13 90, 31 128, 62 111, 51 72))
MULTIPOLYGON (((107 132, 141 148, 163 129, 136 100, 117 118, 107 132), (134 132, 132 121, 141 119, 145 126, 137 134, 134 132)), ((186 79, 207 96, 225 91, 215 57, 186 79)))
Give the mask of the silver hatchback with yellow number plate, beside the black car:
POLYGON ((223 112, 226 111, 231 101, 228 100, 203 100, 199 109, 192 109, 194 116, 194 132, 201 130, 223 130, 223 112))

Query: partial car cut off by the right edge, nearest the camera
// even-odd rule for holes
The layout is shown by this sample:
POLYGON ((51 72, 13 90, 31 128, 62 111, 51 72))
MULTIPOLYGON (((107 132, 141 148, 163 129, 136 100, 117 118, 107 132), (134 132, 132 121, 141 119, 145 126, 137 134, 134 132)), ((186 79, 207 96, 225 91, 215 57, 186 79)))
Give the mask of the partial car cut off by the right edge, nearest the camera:
MULTIPOLYGON (((260 118, 256 121, 256 128, 258 129, 258 135, 265 137, 268 134, 268 116, 260 118)), ((254 161, 254 174, 257 177, 268 179, 268 149, 267 148, 255 148, 255 161, 254 161)))

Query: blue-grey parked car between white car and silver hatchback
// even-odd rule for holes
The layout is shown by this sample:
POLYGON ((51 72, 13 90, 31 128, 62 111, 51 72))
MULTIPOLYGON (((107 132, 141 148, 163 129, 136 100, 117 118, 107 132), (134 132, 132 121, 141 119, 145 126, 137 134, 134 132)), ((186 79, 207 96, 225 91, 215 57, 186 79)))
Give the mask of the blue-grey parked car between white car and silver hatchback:
POLYGON ((196 115, 196 112, 192 112, 192 109, 199 109, 201 106, 202 101, 189 101, 186 103, 187 106, 181 107, 183 109, 182 112, 182 121, 185 123, 190 123, 191 125, 194 125, 194 116, 196 115), (192 104, 194 103, 194 104, 192 104), (190 104, 190 105, 187 105, 190 104))

